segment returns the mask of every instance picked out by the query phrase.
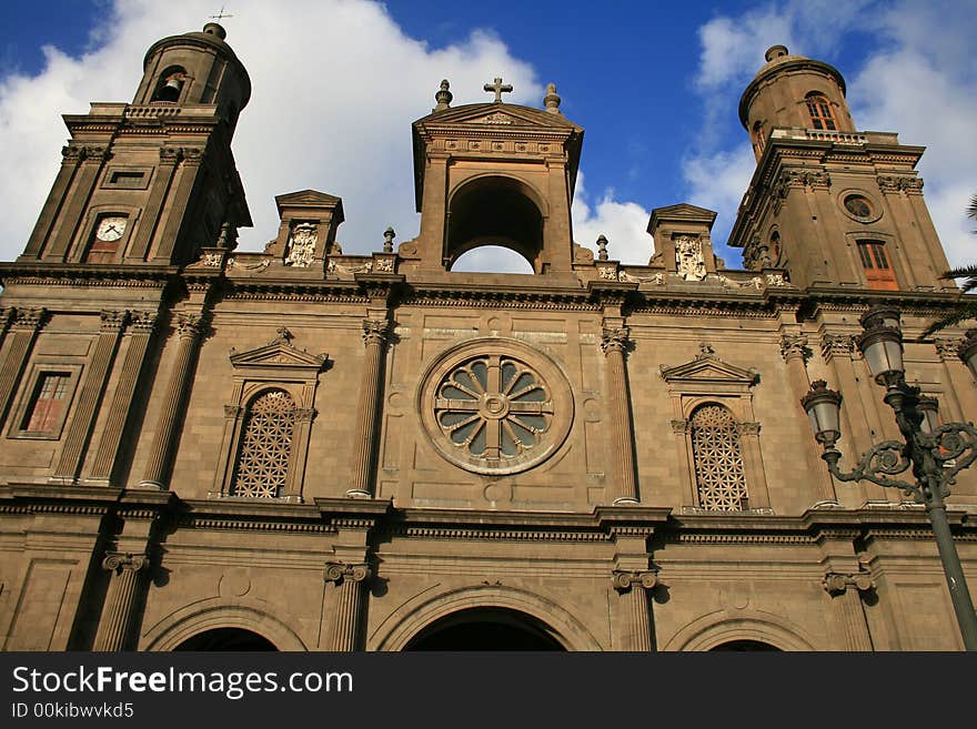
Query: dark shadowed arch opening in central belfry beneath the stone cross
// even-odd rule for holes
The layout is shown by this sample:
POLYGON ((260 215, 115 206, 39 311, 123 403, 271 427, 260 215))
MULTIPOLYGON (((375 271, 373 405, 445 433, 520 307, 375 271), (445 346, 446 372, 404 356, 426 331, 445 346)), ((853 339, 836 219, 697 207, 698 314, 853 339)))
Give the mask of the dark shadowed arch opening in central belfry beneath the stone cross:
POLYGON ((540 195, 521 180, 485 175, 465 182, 449 201, 445 269, 469 251, 497 245, 542 273, 544 211, 540 195))

